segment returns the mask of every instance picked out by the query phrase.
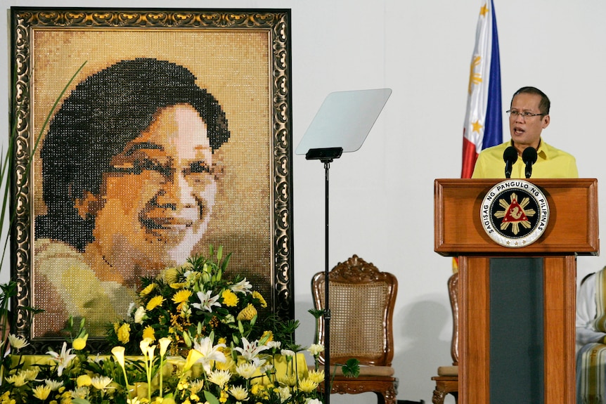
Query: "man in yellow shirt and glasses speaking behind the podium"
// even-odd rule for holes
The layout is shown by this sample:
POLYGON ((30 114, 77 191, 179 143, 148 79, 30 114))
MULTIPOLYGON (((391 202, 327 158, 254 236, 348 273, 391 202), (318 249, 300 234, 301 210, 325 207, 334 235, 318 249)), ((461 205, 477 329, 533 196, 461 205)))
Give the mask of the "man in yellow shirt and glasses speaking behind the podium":
POLYGON ((482 150, 472 178, 505 178, 503 152, 509 146, 513 146, 518 155, 512 165, 511 178, 525 178, 522 152, 529 147, 535 148, 537 154, 531 178, 578 178, 576 159, 541 138, 541 131, 549 126, 549 107, 549 98, 539 89, 522 87, 516 91, 508 110, 511 141, 482 150))

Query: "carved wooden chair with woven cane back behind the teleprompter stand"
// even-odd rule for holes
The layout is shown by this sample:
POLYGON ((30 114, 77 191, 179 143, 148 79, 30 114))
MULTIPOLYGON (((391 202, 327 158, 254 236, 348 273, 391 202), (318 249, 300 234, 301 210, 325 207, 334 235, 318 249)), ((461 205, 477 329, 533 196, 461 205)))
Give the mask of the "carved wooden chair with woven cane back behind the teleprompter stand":
MULTIPOLYGON (((372 263, 354 255, 338 263, 328 274, 330 304, 330 367, 350 358, 360 361, 360 375, 344 377, 337 367, 331 393, 373 392, 378 404, 396 404, 398 379, 394 377, 394 337, 392 318, 398 292, 394 275, 380 272, 372 263)), ((311 280, 314 306, 324 308, 325 273, 311 280)), ((318 339, 324 344, 325 327, 318 320, 318 339)), ((323 356, 320 363, 323 363, 323 356)), ((319 387, 323 391, 324 386, 319 387)))

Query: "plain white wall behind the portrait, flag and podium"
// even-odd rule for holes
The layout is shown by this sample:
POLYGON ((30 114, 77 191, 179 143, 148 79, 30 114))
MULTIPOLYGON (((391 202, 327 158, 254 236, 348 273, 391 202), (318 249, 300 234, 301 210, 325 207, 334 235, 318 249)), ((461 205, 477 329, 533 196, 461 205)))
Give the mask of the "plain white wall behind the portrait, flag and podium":
MULTIPOLYGON (((576 156, 583 177, 606 181, 606 2, 495 0, 503 109, 533 85, 552 100, 548 143, 576 156)), ((8 111, 10 6, 292 8, 292 122, 297 145, 331 91, 393 89, 359 152, 330 168, 330 264, 358 254, 399 278, 394 367, 401 400, 431 402, 430 377, 450 361, 446 280, 433 252, 434 178, 460 176, 469 63, 480 0, 1 0, 0 111, 8 111)), ((1 130, 8 131, 6 119, 1 130)), ((508 122, 506 116, 503 122, 508 122)), ((505 127, 505 136, 508 130, 505 127)), ((295 301, 310 344, 309 282, 324 267, 323 166, 294 158, 295 301)), ((605 187, 600 200, 606 201, 605 187)), ((600 206, 602 228, 606 202, 600 206)), ((580 257, 578 278, 605 265, 580 257)), ((6 277, 6 270, 3 275, 6 277)), ((373 403, 369 394, 334 403, 373 403)), ((453 402, 453 401, 451 401, 453 402)))

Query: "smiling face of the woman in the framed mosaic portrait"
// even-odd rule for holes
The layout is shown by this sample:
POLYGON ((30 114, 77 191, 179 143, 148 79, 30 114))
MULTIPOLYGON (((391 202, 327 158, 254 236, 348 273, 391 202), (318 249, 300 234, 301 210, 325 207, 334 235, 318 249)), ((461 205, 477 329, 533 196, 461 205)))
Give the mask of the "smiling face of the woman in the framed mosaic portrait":
POLYGON ((191 105, 159 110, 103 176, 94 230, 103 259, 118 271, 184 263, 212 212, 212 157, 206 124, 191 105))

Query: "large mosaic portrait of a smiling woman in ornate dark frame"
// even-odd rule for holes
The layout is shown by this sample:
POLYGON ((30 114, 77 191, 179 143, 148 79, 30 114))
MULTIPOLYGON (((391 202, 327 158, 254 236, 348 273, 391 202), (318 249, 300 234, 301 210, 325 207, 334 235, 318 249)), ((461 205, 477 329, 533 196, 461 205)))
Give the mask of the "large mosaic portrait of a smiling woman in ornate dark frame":
POLYGON ((69 316, 102 346, 141 277, 210 246, 293 318, 290 10, 11 21, 13 313, 30 350, 69 316))

